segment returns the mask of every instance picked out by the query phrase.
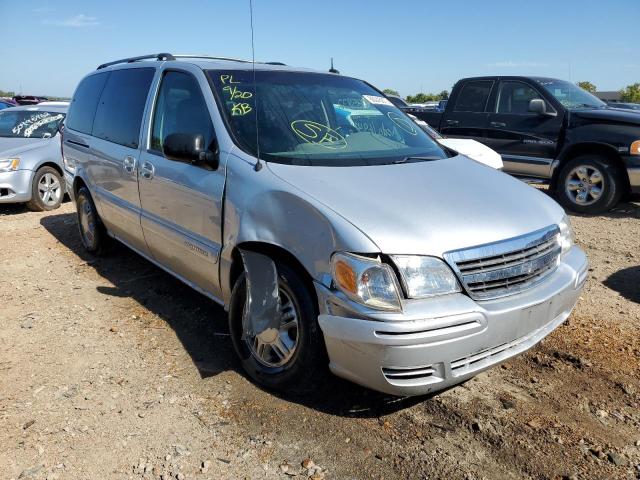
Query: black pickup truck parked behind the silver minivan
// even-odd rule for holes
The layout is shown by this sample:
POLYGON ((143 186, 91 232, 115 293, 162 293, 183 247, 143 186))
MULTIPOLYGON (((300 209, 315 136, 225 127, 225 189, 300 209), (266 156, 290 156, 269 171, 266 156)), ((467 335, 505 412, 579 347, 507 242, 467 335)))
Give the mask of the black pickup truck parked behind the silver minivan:
POLYGON ((640 113, 612 108, 570 82, 465 78, 444 112, 411 113, 443 135, 491 147, 506 172, 549 181, 565 208, 602 212, 640 192, 640 113))

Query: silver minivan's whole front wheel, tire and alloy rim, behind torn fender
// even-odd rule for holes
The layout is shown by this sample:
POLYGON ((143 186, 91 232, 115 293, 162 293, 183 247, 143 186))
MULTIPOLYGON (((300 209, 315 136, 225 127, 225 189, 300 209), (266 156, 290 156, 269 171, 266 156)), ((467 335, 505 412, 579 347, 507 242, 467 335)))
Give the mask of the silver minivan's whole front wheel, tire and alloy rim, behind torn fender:
POLYGON ((242 338, 242 316, 246 300, 246 274, 236 282, 229 308, 229 331, 234 350, 249 377, 268 389, 302 393, 317 381, 326 365, 315 298, 300 276, 276 262, 281 303, 280 328, 276 338, 242 338))

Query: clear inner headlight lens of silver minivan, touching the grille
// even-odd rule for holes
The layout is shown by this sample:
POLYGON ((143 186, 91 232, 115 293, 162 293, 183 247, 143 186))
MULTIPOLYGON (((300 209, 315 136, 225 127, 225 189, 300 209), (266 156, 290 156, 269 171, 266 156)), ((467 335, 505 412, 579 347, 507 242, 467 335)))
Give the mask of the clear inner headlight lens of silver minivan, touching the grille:
POLYGON ((409 298, 425 298, 460 291, 451 269, 440 259, 414 255, 392 255, 409 298))

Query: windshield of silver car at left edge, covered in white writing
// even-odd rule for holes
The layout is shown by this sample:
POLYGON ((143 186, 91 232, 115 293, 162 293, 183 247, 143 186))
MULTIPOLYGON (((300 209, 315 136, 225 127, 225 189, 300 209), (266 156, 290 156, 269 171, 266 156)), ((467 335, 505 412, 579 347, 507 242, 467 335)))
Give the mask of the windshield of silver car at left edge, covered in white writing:
POLYGON ((51 138, 63 120, 60 112, 7 109, 0 112, 0 137, 51 138))

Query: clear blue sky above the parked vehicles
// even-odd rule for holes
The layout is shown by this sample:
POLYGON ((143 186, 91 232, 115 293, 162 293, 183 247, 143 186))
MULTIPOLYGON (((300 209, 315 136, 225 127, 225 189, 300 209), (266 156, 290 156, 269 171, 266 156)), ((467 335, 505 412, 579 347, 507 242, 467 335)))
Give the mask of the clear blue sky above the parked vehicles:
MULTIPOLYGON (((0 90, 71 96, 100 63, 142 54, 251 58, 249 0, 0 0, 0 90)), ((406 96, 476 75, 640 82, 640 0, 253 0, 256 60, 406 96)))

